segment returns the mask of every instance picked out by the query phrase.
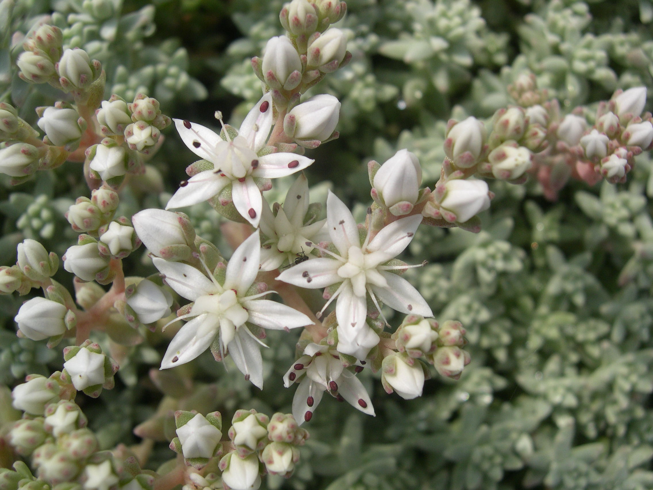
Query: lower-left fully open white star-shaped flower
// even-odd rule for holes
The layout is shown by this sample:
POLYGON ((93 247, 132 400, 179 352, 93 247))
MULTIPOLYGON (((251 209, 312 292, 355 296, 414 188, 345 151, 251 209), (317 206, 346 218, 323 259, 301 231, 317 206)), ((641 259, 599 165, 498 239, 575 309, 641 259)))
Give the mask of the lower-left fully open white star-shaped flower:
POLYGON ((194 301, 191 311, 178 319, 191 318, 174 336, 161 361, 167 369, 192 361, 206 350, 215 336, 219 349, 229 350, 231 358, 246 378, 263 387, 263 360, 257 339, 246 322, 264 329, 285 330, 311 325, 311 319, 278 302, 263 299, 274 291, 249 291, 259 272, 261 241, 255 231, 231 256, 225 271, 224 284, 208 277, 191 265, 167 262, 154 257, 155 267, 165 282, 178 294, 194 301))

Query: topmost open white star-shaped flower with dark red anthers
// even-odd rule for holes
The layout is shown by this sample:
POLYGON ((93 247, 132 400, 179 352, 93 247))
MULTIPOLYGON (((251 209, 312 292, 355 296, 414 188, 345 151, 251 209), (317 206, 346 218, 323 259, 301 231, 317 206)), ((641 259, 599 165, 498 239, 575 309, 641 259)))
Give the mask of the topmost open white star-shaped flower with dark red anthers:
POLYGON ((295 153, 259 155, 272 129, 270 92, 249 111, 234 139, 229 138, 227 131, 227 140, 223 140, 208 127, 179 119, 174 123, 186 146, 200 158, 213 163, 214 168, 182 182, 166 209, 201 203, 231 184, 234 206, 243 218, 257 227, 263 197, 254 179, 285 177, 306 169, 314 161, 295 153))

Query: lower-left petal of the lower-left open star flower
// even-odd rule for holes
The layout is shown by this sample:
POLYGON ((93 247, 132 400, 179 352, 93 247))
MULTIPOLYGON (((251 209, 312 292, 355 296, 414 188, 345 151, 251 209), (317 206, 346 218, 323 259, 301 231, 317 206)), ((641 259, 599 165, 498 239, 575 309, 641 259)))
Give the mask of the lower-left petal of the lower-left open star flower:
POLYGON ((217 333, 217 327, 215 316, 208 314, 193 318, 183 325, 177 335, 170 341, 168 350, 165 351, 161 361, 161 369, 180 366, 195 359, 209 348, 217 333), (206 322, 215 323, 215 329, 211 329, 210 325, 204 325, 206 322), (200 337, 197 336, 199 331, 202 334, 200 337))

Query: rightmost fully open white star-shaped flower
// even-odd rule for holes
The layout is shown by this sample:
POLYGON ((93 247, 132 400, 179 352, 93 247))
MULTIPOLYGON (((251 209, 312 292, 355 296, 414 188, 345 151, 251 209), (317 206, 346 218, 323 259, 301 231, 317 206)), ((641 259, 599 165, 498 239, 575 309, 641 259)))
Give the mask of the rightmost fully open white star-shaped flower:
MULTIPOLYGON (((334 299, 338 320, 338 351, 364 360, 376 335, 367 325, 367 296, 379 312, 378 300, 402 313, 433 316, 422 295, 406 279, 391 272, 405 270, 407 265, 387 265, 404 251, 422 221, 421 215, 408 216, 381 229, 372 240, 368 232, 363 243, 356 221, 349 208, 329 192, 327 229, 339 253, 320 248, 327 257, 310 259, 284 270, 278 280, 308 289, 340 284, 322 311, 334 299)), ((311 244, 315 246, 314 244, 311 244)), ((378 341, 378 338, 376 338, 378 341)))

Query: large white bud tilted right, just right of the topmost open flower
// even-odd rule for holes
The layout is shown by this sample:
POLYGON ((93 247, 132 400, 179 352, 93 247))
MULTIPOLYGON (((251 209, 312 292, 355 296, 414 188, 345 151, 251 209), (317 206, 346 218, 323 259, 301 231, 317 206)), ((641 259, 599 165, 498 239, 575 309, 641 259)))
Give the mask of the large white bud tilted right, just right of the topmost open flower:
POLYGON ((338 124, 340 102, 333 95, 315 95, 296 105, 289 115, 295 117, 296 140, 325 141, 338 124))

